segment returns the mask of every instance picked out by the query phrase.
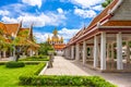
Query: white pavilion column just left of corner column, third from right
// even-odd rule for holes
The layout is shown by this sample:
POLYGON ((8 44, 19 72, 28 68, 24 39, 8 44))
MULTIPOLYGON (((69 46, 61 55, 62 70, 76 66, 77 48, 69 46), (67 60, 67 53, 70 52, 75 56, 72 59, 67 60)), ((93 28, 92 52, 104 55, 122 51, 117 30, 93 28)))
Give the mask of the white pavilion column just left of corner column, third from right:
POLYGON ((98 38, 94 37, 94 67, 98 66, 98 38))

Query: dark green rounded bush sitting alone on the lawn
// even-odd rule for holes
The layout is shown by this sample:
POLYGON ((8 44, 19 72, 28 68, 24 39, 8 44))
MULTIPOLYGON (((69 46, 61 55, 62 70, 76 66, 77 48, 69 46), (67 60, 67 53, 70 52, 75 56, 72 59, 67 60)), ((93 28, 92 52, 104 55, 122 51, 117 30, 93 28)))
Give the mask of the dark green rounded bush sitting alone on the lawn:
POLYGON ((24 67, 25 64, 23 62, 14 62, 14 61, 11 61, 11 62, 8 62, 5 63, 5 66, 7 67, 24 67))

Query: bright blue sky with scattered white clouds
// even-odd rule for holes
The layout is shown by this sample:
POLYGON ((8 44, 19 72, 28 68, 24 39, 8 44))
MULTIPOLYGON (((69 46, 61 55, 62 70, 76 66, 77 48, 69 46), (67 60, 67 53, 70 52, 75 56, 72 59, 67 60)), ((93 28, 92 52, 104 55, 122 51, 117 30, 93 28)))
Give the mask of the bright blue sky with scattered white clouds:
POLYGON ((105 0, 0 0, 0 21, 24 27, 34 23, 34 36, 45 41, 55 27, 67 42, 102 10, 105 0))

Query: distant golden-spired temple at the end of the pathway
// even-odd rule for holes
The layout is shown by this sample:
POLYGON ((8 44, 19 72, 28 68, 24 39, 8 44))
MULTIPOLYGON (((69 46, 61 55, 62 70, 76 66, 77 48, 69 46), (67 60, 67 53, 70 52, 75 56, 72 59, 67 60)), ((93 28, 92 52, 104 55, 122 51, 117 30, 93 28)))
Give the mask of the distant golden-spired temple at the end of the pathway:
POLYGON ((63 44, 63 37, 59 37, 58 36, 58 30, 57 29, 55 29, 52 32, 52 34, 53 34, 52 37, 48 36, 47 42, 52 45, 52 47, 55 48, 55 51, 57 53, 61 53, 62 54, 63 48, 66 46, 66 44, 63 44))

